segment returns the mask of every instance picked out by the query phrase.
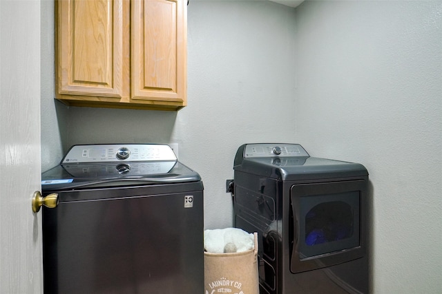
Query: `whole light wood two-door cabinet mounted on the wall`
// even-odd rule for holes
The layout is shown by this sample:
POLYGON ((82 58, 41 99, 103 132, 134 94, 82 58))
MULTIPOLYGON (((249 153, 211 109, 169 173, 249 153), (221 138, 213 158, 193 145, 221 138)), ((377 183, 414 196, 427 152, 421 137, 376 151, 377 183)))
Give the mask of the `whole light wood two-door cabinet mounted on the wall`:
POLYGON ((57 1, 56 98, 74 106, 186 106, 183 0, 57 1))

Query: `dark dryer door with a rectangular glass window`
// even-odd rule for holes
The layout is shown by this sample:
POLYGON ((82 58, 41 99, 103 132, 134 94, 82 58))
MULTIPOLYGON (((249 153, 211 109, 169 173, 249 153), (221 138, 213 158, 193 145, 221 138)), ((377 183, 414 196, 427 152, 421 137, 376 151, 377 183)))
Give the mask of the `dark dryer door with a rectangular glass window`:
POLYGON ((320 269, 365 255, 366 190, 365 180, 291 187, 292 273, 320 269))

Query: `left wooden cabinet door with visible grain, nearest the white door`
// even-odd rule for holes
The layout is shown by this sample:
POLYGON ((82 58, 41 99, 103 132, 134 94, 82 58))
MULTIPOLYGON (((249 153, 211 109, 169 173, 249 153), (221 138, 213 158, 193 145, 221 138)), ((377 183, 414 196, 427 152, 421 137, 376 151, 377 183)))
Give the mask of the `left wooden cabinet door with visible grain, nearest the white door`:
POLYGON ((122 97, 123 1, 57 1, 57 98, 122 97))

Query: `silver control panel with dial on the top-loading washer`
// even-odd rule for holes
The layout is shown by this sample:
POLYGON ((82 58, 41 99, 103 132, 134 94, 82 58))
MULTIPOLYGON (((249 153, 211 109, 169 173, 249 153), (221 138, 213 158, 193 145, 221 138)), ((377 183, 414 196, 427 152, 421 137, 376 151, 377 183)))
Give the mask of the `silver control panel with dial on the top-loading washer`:
POLYGON ((67 163, 177 160, 166 144, 99 144, 75 145, 61 160, 67 163))

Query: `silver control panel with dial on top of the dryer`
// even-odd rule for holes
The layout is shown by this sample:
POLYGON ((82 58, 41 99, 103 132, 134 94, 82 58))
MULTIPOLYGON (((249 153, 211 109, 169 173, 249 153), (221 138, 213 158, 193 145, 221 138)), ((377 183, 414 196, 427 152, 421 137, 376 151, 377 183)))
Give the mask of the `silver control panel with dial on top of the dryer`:
POLYGON ((244 158, 254 157, 296 157, 309 156, 299 144, 247 144, 244 148, 244 158))

